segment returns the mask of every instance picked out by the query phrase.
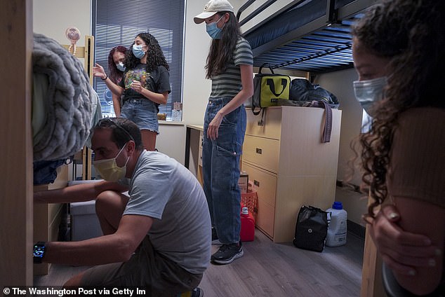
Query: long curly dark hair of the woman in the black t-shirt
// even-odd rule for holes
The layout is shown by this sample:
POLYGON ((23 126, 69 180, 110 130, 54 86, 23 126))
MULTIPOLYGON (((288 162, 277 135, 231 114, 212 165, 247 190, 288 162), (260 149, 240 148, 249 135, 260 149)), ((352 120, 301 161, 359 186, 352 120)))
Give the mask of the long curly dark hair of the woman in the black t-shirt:
MULTIPOLYGON (((140 33, 138 36, 140 39, 145 41, 145 44, 147 44, 148 50, 147 50, 147 67, 145 69, 148 72, 152 72, 155 69, 157 69, 158 66, 164 66, 168 70, 168 63, 166 61, 166 57, 164 57, 164 53, 162 53, 161 46, 159 46, 159 43, 157 39, 154 38, 154 36, 150 33, 140 33)), ((133 46, 134 42, 131 46, 133 46)), ((135 57, 133 55, 133 50, 128 50, 126 55, 126 67, 127 69, 133 69, 140 63, 140 59, 135 57)))

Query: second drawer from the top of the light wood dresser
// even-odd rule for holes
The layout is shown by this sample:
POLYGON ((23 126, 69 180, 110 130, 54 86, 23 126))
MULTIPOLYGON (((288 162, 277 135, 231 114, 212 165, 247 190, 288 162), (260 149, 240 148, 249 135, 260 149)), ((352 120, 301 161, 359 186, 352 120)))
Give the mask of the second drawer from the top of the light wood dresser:
POLYGON ((277 173, 279 140, 246 135, 244 137, 243 160, 277 173))

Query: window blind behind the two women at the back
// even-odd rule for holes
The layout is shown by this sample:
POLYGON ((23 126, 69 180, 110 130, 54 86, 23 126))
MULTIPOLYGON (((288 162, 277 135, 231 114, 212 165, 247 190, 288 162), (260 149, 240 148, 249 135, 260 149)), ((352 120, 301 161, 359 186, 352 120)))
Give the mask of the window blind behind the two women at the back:
MULTIPOLYGON (((95 36, 95 62, 108 69, 109 51, 114 46, 130 48, 140 32, 152 34, 170 67, 171 93, 167 104, 159 106, 171 120, 173 102, 182 102, 182 48, 185 0, 92 0, 92 28, 95 36)), ((95 79, 103 116, 114 116, 111 96, 105 83, 95 79), (107 96, 105 96, 107 92, 107 96)))

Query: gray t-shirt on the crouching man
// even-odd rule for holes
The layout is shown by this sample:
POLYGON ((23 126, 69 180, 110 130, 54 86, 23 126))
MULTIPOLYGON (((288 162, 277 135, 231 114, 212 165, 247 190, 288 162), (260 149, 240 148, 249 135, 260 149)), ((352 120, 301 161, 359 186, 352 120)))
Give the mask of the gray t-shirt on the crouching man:
POLYGON ((150 216, 148 235, 160 254, 197 274, 211 256, 211 221, 204 191, 184 166, 156 151, 142 151, 129 181, 124 214, 150 216))

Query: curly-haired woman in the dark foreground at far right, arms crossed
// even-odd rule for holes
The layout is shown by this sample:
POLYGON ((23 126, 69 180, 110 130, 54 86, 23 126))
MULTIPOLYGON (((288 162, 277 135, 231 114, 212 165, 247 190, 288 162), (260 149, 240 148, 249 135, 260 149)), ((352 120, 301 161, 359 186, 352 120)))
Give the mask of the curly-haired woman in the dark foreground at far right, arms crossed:
POLYGON ((371 130, 359 137, 373 200, 365 219, 397 282, 434 296, 445 289, 444 27, 444 1, 383 0, 352 29, 354 91, 359 102, 373 102, 371 130), (401 247, 387 235, 393 226, 374 228, 386 205, 399 216, 393 225, 402 237, 416 240, 401 247))

